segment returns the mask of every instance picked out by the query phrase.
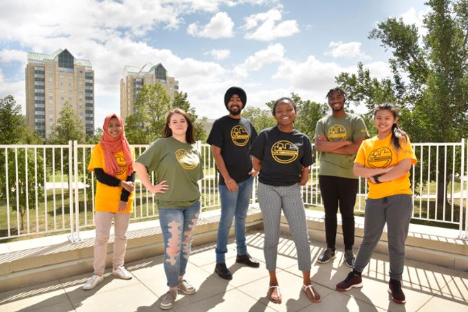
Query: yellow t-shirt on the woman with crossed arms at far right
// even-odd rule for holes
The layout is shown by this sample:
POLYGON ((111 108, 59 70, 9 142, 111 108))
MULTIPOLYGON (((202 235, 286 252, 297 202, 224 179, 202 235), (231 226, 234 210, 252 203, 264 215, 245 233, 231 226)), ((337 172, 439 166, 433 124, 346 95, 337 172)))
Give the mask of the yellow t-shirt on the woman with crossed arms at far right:
MULTIPOLYGON (((366 168, 386 168, 398 165, 403 159, 411 159, 412 164, 416 163, 409 139, 400 147, 398 153, 392 145, 392 134, 379 140, 377 136, 364 140, 359 147, 354 163, 364 165, 366 168)), ((400 178, 379 184, 368 183, 368 198, 378 199, 396 194, 412 194, 411 183, 409 183, 409 172, 400 178)))

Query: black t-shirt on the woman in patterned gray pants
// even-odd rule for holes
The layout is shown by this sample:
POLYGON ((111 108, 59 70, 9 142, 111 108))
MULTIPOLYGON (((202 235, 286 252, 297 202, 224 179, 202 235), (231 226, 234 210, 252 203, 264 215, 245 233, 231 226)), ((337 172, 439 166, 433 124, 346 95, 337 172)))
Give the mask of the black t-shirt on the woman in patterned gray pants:
POLYGON ((312 165, 312 147, 306 134, 278 127, 264 129, 253 143, 250 154, 262 160, 259 181, 267 185, 288 186, 299 183, 302 167, 312 165))

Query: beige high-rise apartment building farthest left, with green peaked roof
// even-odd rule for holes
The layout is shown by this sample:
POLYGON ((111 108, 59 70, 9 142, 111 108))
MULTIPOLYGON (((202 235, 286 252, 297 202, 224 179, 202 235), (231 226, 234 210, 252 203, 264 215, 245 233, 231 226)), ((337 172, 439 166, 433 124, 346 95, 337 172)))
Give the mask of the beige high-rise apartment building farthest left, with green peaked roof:
POLYGON ((86 134, 94 134, 94 70, 67 49, 52 54, 28 53, 26 118, 42 138, 48 138, 65 102, 72 105, 86 134))

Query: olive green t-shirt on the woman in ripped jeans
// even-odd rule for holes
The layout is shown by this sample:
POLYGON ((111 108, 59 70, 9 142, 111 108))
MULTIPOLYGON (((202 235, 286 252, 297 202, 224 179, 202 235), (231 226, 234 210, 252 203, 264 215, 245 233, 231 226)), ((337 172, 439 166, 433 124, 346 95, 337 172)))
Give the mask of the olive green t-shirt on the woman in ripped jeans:
POLYGON ((188 207, 200 199, 198 180, 203 178, 200 154, 189 144, 173 137, 159 138, 138 157, 137 163, 154 171, 154 184, 166 180, 169 189, 155 194, 163 209, 188 207))

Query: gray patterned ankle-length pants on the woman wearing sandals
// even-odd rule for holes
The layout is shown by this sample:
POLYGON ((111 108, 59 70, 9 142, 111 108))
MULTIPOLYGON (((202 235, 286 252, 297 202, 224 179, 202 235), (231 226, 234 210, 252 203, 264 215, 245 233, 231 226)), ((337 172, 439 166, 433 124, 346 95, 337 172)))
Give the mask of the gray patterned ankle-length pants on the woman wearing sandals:
POLYGON ((310 271, 310 245, 299 183, 275 187, 258 183, 258 201, 264 217, 264 255, 266 269, 276 269, 281 210, 288 220, 292 240, 296 245, 299 271, 310 271))

